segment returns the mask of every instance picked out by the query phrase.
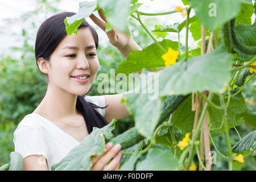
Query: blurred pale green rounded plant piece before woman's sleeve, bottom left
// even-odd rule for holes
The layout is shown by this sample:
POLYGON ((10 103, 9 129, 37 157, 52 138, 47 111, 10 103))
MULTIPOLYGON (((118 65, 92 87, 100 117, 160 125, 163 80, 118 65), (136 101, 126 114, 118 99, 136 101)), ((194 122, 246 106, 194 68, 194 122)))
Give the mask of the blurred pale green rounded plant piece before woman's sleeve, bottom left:
POLYGON ((23 171, 23 156, 18 152, 11 152, 10 154, 9 171, 23 171))

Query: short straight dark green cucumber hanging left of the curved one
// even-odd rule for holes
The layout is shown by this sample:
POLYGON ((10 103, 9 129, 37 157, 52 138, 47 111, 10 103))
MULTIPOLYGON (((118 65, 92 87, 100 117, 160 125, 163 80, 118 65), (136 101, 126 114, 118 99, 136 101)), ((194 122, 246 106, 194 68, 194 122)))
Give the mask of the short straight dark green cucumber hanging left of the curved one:
POLYGON ((226 48, 226 51, 232 53, 233 43, 232 43, 230 22, 226 22, 222 24, 222 26, 220 27, 220 38, 221 38, 222 44, 226 48))

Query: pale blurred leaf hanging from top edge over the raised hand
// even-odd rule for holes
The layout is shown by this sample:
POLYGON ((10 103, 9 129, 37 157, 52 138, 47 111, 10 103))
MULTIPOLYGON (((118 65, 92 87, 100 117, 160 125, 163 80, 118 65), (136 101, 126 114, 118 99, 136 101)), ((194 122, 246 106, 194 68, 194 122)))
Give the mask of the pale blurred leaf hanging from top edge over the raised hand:
POLYGON ((98 5, 104 8, 107 22, 113 27, 130 34, 127 26, 130 1, 127 0, 98 0, 98 5))

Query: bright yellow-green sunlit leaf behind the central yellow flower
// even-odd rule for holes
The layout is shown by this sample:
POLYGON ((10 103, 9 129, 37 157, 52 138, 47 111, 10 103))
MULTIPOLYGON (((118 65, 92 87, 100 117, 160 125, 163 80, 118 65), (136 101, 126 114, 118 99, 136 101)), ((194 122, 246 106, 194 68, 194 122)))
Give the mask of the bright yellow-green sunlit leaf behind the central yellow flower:
MULTIPOLYGON (((164 39, 162 42, 159 42, 166 50, 169 47, 177 51, 178 43, 172 42, 171 40, 164 39)), ((164 52, 160 49, 156 43, 151 44, 150 46, 144 48, 142 51, 134 50, 129 53, 127 60, 123 61, 118 67, 115 73, 133 73, 136 71, 141 71, 142 68, 152 69, 157 67, 164 67, 164 60, 162 55, 164 52)))

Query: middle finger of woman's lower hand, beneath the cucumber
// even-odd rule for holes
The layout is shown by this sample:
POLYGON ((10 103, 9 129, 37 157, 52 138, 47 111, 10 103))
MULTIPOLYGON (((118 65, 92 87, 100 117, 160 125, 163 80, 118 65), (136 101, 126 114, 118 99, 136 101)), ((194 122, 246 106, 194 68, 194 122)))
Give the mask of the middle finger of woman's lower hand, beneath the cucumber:
POLYGON ((91 170, 102 170, 104 169, 104 166, 109 162, 110 159, 112 159, 121 149, 120 144, 116 144, 114 147, 112 147, 104 156, 102 156, 96 164, 91 168, 91 170))

